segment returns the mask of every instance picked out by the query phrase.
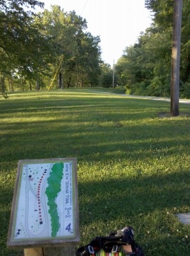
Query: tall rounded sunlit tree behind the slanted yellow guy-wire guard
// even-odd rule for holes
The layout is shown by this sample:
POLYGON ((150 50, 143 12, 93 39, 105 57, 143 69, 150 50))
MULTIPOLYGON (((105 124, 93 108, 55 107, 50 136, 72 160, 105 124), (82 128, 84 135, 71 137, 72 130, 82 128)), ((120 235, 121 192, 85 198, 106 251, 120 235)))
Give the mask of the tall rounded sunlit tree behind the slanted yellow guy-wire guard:
POLYGON ((52 6, 51 11, 39 13, 36 22, 43 24, 43 33, 52 38, 52 67, 57 68, 60 56, 63 56, 61 72, 64 87, 98 84, 100 40, 98 36, 85 32, 86 20, 75 12, 67 13, 60 6, 52 6))

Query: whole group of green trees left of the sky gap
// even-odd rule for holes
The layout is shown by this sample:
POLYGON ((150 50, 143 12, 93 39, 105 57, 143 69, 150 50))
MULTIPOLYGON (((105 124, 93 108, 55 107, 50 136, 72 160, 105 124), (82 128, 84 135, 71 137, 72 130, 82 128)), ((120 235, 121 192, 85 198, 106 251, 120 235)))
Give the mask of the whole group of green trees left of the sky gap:
POLYGON ((47 88, 60 63, 59 86, 98 85, 103 65, 99 36, 87 31, 85 19, 60 6, 34 13, 35 6, 43 5, 0 0, 1 92, 47 88))

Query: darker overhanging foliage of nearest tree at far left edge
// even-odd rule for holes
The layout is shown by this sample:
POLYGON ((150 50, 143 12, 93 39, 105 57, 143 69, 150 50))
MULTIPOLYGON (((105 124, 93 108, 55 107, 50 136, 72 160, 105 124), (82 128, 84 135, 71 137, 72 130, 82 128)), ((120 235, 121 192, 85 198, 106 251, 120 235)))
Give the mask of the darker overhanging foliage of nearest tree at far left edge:
POLYGON ((15 81, 24 90, 26 82, 36 81, 46 65, 50 38, 41 35, 32 11, 43 5, 34 0, 0 3, 0 74, 9 85, 11 81, 11 90, 15 81))

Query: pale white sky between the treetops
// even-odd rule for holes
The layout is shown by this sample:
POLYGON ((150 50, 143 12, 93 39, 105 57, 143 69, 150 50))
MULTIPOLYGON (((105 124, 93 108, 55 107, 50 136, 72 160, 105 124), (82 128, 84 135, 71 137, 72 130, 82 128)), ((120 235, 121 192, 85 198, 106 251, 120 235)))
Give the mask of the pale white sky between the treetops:
POLYGON ((124 49, 135 44, 141 31, 151 24, 144 0, 41 0, 45 9, 59 5, 64 12, 75 10, 87 20, 87 31, 100 36, 101 58, 113 66, 124 49))

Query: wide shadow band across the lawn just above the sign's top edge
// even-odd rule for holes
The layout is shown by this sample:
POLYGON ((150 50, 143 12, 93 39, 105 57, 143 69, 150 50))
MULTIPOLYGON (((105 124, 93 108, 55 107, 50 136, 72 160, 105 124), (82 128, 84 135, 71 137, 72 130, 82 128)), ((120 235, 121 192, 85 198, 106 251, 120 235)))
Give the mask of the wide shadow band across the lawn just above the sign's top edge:
POLYGON ((15 122, 1 125, 4 132, 1 161, 77 157, 79 161, 143 159, 185 152, 189 147, 187 120, 155 124, 66 120, 15 122))

